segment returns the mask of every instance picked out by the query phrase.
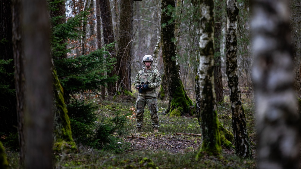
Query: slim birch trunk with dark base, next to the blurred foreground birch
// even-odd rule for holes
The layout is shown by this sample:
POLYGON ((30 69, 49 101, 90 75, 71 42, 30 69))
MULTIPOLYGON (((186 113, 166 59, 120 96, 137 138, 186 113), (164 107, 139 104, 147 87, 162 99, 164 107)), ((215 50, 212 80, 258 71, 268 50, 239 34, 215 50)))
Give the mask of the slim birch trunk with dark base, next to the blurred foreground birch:
POLYGON ((250 139, 246 128, 246 117, 240 98, 237 76, 237 16, 239 9, 236 0, 227 0, 227 33, 226 33, 226 73, 230 89, 232 109, 232 127, 235 141, 235 154, 239 157, 252 158, 250 139))

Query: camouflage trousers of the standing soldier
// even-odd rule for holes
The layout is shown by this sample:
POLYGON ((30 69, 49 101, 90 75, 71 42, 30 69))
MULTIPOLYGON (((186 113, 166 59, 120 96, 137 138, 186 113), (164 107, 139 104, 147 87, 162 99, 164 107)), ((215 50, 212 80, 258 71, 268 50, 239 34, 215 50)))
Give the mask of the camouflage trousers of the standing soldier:
POLYGON ((158 115, 158 105, 157 99, 155 97, 145 97, 145 96, 138 96, 136 101, 136 119, 137 119, 137 127, 143 126, 143 116, 144 116, 144 107, 149 106, 150 115, 152 118, 152 128, 159 127, 159 115, 158 115))

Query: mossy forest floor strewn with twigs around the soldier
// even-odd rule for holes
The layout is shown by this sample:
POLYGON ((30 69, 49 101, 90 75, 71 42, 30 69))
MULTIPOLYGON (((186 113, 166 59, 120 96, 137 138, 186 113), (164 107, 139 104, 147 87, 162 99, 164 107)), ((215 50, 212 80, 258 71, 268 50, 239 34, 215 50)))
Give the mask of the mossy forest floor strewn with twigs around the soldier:
MULTIPOLYGON (((135 106, 133 98, 99 100, 99 118, 110 118, 114 112, 129 113, 135 106)), ((126 134, 117 136, 122 151, 104 151, 78 145, 78 152, 56 155, 54 168, 256 168, 256 131, 252 104, 244 104, 253 159, 238 158, 234 149, 222 147, 219 156, 199 153, 202 144, 200 126, 197 118, 182 116, 169 118, 165 115, 168 103, 158 100, 160 127, 153 133, 148 106, 145 107, 144 125, 141 131, 136 128, 136 119, 128 117, 126 134)), ((218 118, 224 128, 232 132, 229 103, 217 106, 218 118)), ((101 120, 100 120, 101 121, 101 120)), ((233 143, 234 144, 234 143, 233 143)), ((7 152, 11 168, 18 168, 18 153, 7 152)))

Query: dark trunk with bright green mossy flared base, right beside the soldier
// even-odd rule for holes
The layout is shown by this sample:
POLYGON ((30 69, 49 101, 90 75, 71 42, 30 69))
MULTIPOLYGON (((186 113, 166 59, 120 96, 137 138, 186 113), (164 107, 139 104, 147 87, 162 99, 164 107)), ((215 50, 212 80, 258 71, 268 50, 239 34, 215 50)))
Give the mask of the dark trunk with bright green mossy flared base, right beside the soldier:
MULTIPOLYGON (((162 11, 168 10, 168 6, 175 7, 175 0, 163 0, 162 11)), ((176 46, 174 39, 174 23, 170 23, 171 15, 166 12, 161 14, 161 38, 162 38, 162 57, 164 63, 164 72, 168 86, 168 97, 170 105, 170 116, 180 116, 190 114, 190 106, 192 101, 184 90, 183 83, 180 79, 180 67, 176 62, 176 46)))

